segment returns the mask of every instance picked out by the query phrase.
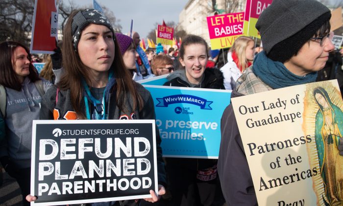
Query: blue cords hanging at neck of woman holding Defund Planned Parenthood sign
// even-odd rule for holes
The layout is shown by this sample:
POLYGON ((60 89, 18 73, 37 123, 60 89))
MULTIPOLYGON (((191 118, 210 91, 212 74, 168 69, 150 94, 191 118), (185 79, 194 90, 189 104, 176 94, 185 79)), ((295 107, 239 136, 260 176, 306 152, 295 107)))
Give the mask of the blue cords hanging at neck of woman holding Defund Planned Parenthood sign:
MULTIPOLYGON (((108 81, 110 80, 110 78, 113 76, 113 71, 111 70, 110 73, 109 73, 109 76, 108 76, 108 81)), ((85 81, 84 78, 81 79, 82 80, 82 85, 83 85, 83 88, 85 89, 85 92, 87 93, 87 96, 89 97, 90 101, 93 103, 94 105, 94 108, 95 108, 95 119, 97 120, 104 120, 105 119, 105 114, 106 114, 106 110, 105 110, 105 95, 106 95, 106 90, 107 89, 110 89, 110 88, 107 88, 107 85, 105 87, 105 90, 103 92, 103 95, 102 95, 102 102, 100 102, 99 100, 97 100, 91 93, 91 91, 89 90, 88 88, 88 85, 85 81), (101 113, 101 115, 100 115, 101 113)), ((86 107, 86 115, 87 115, 87 119, 88 120, 91 120, 91 113, 89 111, 89 104, 88 104, 88 98, 85 96, 84 97, 84 101, 85 101, 85 107, 86 107)), ((93 119, 93 118, 92 118, 93 119)))

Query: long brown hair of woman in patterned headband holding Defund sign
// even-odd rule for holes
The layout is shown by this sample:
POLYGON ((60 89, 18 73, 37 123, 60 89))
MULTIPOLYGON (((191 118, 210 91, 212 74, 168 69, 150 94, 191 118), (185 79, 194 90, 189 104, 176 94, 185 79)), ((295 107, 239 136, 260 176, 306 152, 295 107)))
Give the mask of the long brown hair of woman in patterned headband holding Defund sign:
MULTIPOLYGON (((65 74, 62 77, 61 81, 58 83, 58 86, 62 90, 70 89, 73 109, 79 119, 85 119, 85 114, 80 108, 84 90, 81 83, 81 77, 84 77, 86 79, 86 82, 90 82, 90 73, 88 70, 84 69, 85 66, 81 62, 78 52, 74 50, 72 35, 73 17, 79 11, 81 10, 76 10, 69 16, 66 26, 64 27, 62 65, 65 70, 65 74)), ((126 93, 128 92, 133 100, 133 109, 135 110, 136 108, 139 108, 139 110, 141 110, 143 108, 143 99, 138 94, 129 72, 125 69, 123 57, 120 52, 118 42, 115 39, 114 33, 113 37, 116 53, 110 70, 113 70, 114 76, 116 77, 117 81, 117 84, 114 87, 117 89, 116 103, 122 111, 127 111, 128 108, 126 107, 126 102, 124 102, 124 100, 126 99, 126 93)))

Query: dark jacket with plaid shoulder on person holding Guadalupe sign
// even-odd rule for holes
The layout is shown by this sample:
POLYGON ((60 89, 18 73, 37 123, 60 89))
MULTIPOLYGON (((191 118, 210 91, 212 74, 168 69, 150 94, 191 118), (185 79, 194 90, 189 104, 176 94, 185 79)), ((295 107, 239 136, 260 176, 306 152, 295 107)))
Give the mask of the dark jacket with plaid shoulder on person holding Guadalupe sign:
MULTIPOLYGON (((272 88, 255 76, 252 67, 238 78, 231 99, 266 92, 272 88)), ((246 159, 241 133, 230 103, 221 117, 218 174, 227 206, 257 206, 257 198, 246 159)))

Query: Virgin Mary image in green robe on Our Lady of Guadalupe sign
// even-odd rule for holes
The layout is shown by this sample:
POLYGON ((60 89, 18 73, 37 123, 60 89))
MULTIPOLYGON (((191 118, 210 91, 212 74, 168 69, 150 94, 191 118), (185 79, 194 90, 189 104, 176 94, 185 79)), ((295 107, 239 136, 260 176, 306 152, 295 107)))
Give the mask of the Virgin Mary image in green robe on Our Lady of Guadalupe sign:
POLYGON ((343 204, 343 156, 337 148, 343 129, 343 112, 333 104, 325 89, 314 89, 313 96, 319 106, 316 114, 316 146, 323 180, 325 205, 343 204))

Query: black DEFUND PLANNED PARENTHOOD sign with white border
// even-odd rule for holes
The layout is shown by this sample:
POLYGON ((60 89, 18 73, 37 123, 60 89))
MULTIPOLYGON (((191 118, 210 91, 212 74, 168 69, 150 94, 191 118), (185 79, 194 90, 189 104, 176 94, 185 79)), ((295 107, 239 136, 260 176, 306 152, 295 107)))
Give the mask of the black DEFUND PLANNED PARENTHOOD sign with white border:
POLYGON ((36 205, 96 203, 157 193, 154 120, 33 121, 36 205))

